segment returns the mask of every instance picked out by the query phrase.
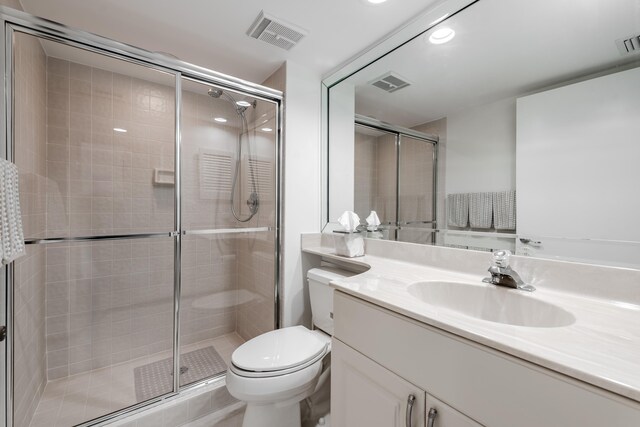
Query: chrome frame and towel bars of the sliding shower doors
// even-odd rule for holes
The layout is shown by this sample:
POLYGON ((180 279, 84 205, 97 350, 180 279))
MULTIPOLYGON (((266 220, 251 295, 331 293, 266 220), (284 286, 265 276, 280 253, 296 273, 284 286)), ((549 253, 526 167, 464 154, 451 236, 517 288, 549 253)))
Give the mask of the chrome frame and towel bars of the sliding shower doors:
MULTIPOLYGON (((178 59, 170 58, 164 54, 149 52, 134 46, 120 43, 105 37, 91 34, 85 31, 69 28, 65 25, 55 23, 46 19, 42 19, 28 13, 17 11, 5 6, 0 6, 0 20, 2 21, 2 32, 0 44, 3 53, 0 55, 2 61, 0 67, 4 73, 4 85, 0 85, 0 99, 2 106, 0 111, 2 120, 0 120, 0 132, 4 137, 4 141, 0 144, 0 155, 10 161, 14 161, 13 146, 13 35, 15 32, 29 34, 45 40, 62 43, 67 46, 76 47, 91 51, 100 55, 111 57, 118 60, 127 61, 129 63, 141 65, 149 69, 162 71, 171 74, 175 78, 175 194, 174 194, 174 230, 169 233, 149 233, 149 234, 129 234, 129 235, 105 235, 105 236, 84 236, 75 238, 62 239, 38 239, 26 241, 27 244, 47 244, 54 242, 77 242, 77 241, 107 241, 122 239, 140 239, 140 238, 173 238, 174 239, 174 317, 173 317, 173 362, 174 362, 174 382, 173 390, 167 394, 156 397, 154 399, 127 407, 120 411, 109 415, 102 416, 90 422, 80 424, 80 427, 103 425, 114 420, 124 418, 136 412, 142 411, 150 406, 161 404, 166 399, 178 396, 184 390, 192 390, 202 387, 206 384, 219 381, 224 374, 216 377, 206 378, 194 384, 180 387, 179 372, 180 366, 180 336, 179 336, 179 315, 180 315, 180 261, 181 261, 181 243, 182 236, 190 234, 233 234, 233 233, 249 233, 256 231, 274 231, 275 232, 275 286, 274 286, 274 328, 280 327, 280 286, 282 271, 282 254, 280 251, 280 242, 282 240, 282 167, 283 144, 282 144, 282 126, 283 126, 283 94, 281 91, 251 83, 242 79, 218 73, 204 67, 189 64, 178 59), (204 85, 213 85, 221 89, 229 89, 234 92, 245 93, 255 99, 272 103, 276 107, 276 182, 275 182, 275 227, 256 228, 234 228, 234 229, 212 229, 198 230, 186 232, 182 229, 181 217, 181 191, 180 191, 180 149, 181 149, 181 129, 182 129, 182 79, 189 79, 204 85)), ((13 263, 6 268, 2 268, 4 290, 6 291, 5 304, 2 304, 2 293, 0 293, 0 322, 4 322, 7 327, 7 338, 5 344, 5 365, 0 367, 5 373, 5 384, 0 383, 5 391, 4 399, 4 420, 8 427, 13 426, 13 338, 14 338, 14 320, 13 320, 13 263), (5 312, 2 312, 5 309, 5 312)), ((2 417, 0 410, 0 417, 2 417)), ((0 418, 1 419, 1 418, 0 418)), ((2 422, 0 421, 0 422, 2 422)))

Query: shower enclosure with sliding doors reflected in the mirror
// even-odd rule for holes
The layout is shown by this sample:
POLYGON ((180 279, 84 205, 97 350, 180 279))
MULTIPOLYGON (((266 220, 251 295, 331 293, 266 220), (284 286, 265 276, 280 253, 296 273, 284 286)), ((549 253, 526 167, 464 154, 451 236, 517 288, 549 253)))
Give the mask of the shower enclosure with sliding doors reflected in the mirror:
POLYGON ((360 115, 355 124, 355 212, 376 211, 385 239, 433 244, 438 137, 360 115))

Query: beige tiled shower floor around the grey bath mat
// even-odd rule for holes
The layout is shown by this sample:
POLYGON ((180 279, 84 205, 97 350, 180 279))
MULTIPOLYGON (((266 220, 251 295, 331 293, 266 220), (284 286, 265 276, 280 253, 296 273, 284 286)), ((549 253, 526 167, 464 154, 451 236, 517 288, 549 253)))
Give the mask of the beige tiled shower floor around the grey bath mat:
MULTIPOLYGON (((231 353, 243 342, 231 333, 183 346, 182 353, 212 345, 228 364, 231 353)), ((170 352, 158 353, 48 382, 30 427, 70 427, 138 403, 133 370, 170 356, 170 352)))

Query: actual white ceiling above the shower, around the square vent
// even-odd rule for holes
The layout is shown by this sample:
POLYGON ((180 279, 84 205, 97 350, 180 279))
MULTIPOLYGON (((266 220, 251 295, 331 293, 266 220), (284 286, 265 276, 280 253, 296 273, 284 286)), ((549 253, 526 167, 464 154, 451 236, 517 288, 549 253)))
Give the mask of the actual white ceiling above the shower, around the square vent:
POLYGON ((319 75, 436 0, 20 0, 26 12, 256 83, 290 60, 319 75), (308 31, 286 51, 250 38, 261 10, 308 31))

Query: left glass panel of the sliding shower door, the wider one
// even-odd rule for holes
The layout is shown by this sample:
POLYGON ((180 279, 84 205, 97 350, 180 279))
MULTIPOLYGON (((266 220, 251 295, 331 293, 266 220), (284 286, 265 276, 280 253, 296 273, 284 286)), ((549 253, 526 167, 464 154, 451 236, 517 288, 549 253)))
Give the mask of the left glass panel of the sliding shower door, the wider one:
POLYGON ((176 77, 16 31, 13 424, 173 391, 176 77))

